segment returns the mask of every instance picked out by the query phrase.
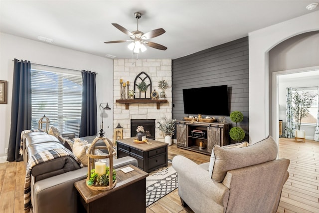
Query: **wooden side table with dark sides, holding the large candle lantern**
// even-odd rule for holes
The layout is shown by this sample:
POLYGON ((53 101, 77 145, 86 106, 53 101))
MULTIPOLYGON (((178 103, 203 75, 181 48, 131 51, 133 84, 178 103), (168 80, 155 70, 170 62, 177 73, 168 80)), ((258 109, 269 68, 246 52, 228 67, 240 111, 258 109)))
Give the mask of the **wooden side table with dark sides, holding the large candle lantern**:
POLYGON ((134 171, 116 169, 116 186, 108 191, 95 191, 86 186, 86 179, 75 182, 78 191, 78 213, 146 213, 146 177, 148 173, 129 165, 134 171))

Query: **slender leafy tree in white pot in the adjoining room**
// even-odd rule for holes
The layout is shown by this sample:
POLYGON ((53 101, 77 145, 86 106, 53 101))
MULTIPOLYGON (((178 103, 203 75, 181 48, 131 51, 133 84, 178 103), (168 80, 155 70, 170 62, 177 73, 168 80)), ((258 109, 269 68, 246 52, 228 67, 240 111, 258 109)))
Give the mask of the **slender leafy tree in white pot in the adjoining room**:
POLYGON ((309 108, 311 107, 315 95, 308 95, 305 91, 298 91, 295 89, 292 97, 292 110, 294 112, 294 119, 297 120, 298 130, 296 130, 295 137, 305 138, 305 130, 300 130, 301 120, 307 117, 309 108))

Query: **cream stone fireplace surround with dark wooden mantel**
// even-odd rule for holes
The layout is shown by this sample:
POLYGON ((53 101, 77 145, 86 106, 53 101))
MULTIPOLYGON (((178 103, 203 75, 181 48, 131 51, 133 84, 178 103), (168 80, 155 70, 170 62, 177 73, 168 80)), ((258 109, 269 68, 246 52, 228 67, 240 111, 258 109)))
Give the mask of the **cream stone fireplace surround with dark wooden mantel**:
MULTIPOLYGON (((158 129, 158 122, 164 117, 171 118, 171 59, 134 59, 133 62, 132 59, 114 59, 113 61, 114 128, 120 123, 123 127, 123 138, 130 138, 132 135, 135 136, 137 127, 132 126, 131 120, 151 120, 154 127, 152 127, 152 131, 150 130, 150 137, 155 140, 164 141, 164 136, 160 134, 158 129), (158 88, 159 81, 164 79, 167 81, 169 85, 169 88, 165 90, 167 103, 161 103, 160 109, 157 109, 157 103, 143 103, 143 99, 136 99, 141 100, 141 103, 139 103, 139 101, 137 101, 137 103, 130 103, 129 109, 125 108, 124 103, 116 103, 116 100, 121 98, 120 79, 123 79, 123 82, 126 83, 127 95, 127 84, 129 83, 129 90, 133 90, 134 80, 141 72, 145 72, 150 76, 152 91, 156 90, 160 93, 160 89, 158 88)), ((146 125, 148 124, 142 124, 140 126, 144 126, 146 129, 146 125)))

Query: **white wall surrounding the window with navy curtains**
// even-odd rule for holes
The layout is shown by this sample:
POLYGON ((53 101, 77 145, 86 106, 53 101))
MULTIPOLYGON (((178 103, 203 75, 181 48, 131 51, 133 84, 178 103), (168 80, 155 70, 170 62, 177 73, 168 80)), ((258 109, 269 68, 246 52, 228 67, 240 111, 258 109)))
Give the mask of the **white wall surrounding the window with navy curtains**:
MULTIPOLYGON (((0 33, 0 80, 8 81, 8 103, 0 104, 0 161, 1 159, 6 159, 4 149, 8 147, 10 135, 13 79, 12 60, 14 58, 29 60, 31 63, 97 72, 97 104, 99 106, 100 102, 109 102, 111 106, 113 105, 113 92, 110 92, 113 91, 113 60, 0 33)), ((98 124, 100 124, 101 111, 99 108, 97 110, 98 124)), ((99 128, 100 125, 98 125, 99 128)), ((106 136, 113 138, 113 109, 104 113, 104 129, 106 136)))

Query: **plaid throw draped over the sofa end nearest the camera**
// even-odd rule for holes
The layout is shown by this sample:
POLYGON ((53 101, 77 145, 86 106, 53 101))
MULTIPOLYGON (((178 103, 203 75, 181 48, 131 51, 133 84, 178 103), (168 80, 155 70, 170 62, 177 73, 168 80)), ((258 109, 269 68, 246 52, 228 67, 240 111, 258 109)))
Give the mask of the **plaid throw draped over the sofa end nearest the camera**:
POLYGON ((29 213, 30 209, 32 209, 31 187, 30 187, 32 168, 37 164, 41 164, 46 161, 64 157, 64 156, 71 156, 80 165, 80 167, 83 168, 83 164, 81 163, 81 161, 67 148, 42 151, 35 155, 32 155, 29 158, 28 163, 26 165, 26 174, 25 174, 25 182, 24 182, 24 213, 29 213))

